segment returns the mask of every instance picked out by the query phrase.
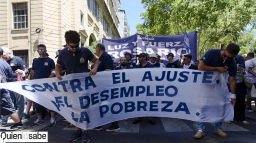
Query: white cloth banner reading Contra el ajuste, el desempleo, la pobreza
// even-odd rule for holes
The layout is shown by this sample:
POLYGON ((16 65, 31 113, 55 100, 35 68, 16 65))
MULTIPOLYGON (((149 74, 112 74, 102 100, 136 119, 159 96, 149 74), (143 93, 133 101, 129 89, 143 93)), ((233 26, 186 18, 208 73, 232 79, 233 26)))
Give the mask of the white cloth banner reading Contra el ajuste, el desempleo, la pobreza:
MULTIPOLYGON (((226 74, 225 74, 226 75, 226 74)), ((0 84, 91 129, 127 118, 156 116, 201 122, 233 120, 224 74, 172 68, 76 73, 0 84)))

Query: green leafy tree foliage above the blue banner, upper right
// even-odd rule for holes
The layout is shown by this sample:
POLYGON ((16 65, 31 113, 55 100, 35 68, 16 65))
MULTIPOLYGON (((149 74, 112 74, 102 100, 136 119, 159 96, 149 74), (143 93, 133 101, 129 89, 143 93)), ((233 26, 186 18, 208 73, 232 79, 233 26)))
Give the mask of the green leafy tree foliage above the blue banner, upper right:
POLYGON ((198 57, 208 49, 238 43, 248 24, 256 27, 255 0, 142 0, 146 12, 137 32, 176 35, 198 31, 198 57))

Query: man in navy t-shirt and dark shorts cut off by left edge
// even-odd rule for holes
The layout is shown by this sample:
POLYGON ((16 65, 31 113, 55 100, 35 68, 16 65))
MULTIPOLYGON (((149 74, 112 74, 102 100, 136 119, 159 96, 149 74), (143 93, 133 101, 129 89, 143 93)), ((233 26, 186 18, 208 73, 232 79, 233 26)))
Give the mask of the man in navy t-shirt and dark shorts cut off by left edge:
MULTIPOLYGON (((0 55, 2 57, 4 51, 2 48, 0 48, 0 55)), ((0 83, 7 82, 7 79, 12 78, 12 69, 6 61, 0 60, 0 83)), ((14 106, 12 104, 12 99, 10 97, 9 91, 0 88, 0 114, 1 116, 10 116, 10 118, 14 121, 14 124, 10 127, 11 129, 17 128, 18 130, 26 129, 28 126, 22 124, 22 121, 20 120, 16 110, 14 109, 14 106)), ((7 123, 6 123, 7 124, 7 123)), ((2 124, 3 127, 6 124, 2 124)))

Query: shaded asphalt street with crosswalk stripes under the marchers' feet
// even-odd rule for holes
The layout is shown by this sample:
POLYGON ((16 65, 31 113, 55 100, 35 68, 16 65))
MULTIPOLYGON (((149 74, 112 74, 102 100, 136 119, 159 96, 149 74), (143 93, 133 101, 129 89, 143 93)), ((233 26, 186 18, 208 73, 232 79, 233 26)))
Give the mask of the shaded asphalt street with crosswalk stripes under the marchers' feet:
MULTIPOLYGON (((254 106, 253 106, 254 107, 254 106)), ((23 131, 48 131, 49 143, 67 143, 75 128, 67 128, 57 116, 57 125, 49 127, 50 117, 47 115, 43 125, 28 127, 23 131)), ((31 125, 36 119, 32 115, 30 119, 22 120, 26 125, 31 125)), ((148 118, 142 118, 142 122, 132 124, 132 119, 119 121, 120 131, 106 132, 110 124, 103 125, 102 131, 89 131, 90 143, 256 143, 256 112, 246 112, 246 120, 250 125, 243 125, 238 121, 231 124, 223 123, 222 129, 228 134, 223 138, 214 135, 214 123, 206 123, 206 136, 202 139, 194 139, 197 123, 184 119, 156 118, 156 125, 151 125, 148 118)), ((1 131, 14 131, 10 129, 13 121, 8 121, 7 127, 1 127, 1 131)), ((78 140, 74 143, 80 143, 78 140)))

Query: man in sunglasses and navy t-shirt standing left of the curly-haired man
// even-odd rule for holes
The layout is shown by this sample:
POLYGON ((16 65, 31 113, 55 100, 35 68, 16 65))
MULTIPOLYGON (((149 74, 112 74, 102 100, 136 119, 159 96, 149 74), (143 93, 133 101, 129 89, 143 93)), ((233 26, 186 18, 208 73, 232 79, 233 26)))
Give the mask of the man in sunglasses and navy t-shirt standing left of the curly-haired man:
MULTIPOLYGON (((37 52, 40 55, 39 58, 35 59, 32 63, 32 70, 30 72, 30 80, 41 79, 41 78, 52 78, 55 77, 55 63, 54 61, 46 56, 46 46, 44 44, 39 44, 37 46, 37 52)), ((36 127, 37 125, 43 124, 42 117, 46 111, 46 108, 36 102, 36 114, 37 119, 34 121, 31 127, 36 127)), ((51 120, 50 127, 56 125, 55 112, 50 110, 51 120)))

